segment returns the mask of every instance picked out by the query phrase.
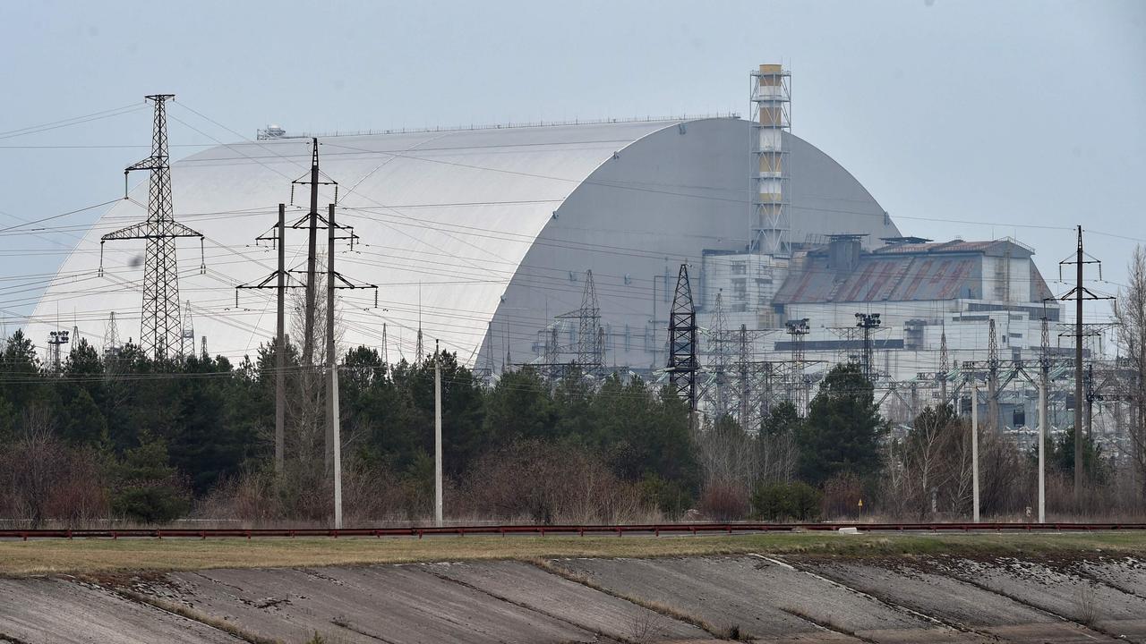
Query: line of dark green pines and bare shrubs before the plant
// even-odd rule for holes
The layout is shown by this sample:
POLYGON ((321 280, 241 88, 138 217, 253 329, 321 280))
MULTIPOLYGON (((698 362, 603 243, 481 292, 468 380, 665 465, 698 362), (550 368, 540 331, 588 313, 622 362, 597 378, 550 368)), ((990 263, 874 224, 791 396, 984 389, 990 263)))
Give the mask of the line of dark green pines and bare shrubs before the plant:
MULTIPOLYGON (((273 348, 238 364, 221 356, 156 363, 131 345, 103 356, 80 340, 48 372, 17 331, 0 360, 0 520, 328 523, 323 378, 300 364, 297 347, 286 358, 285 464, 276 472, 273 348)), ((744 427, 730 416, 692 424, 684 402, 639 378, 591 385, 572 375, 550 386, 525 368, 486 386, 456 355, 438 359, 446 506, 455 520, 971 511, 966 422, 941 407, 893 432, 854 364, 827 374, 806 418, 784 403, 744 427)), ((433 495, 432 356, 386 364, 358 347, 344 355, 339 378, 347 521, 424 520, 433 495)), ((1054 511, 1072 509, 1070 445, 1051 450, 1054 511)), ((994 433, 980 449, 983 513, 1033 505, 1031 455, 994 433)), ((1118 480, 1106 463, 1088 442, 1097 510, 1113 508, 1104 498, 1118 480)))

